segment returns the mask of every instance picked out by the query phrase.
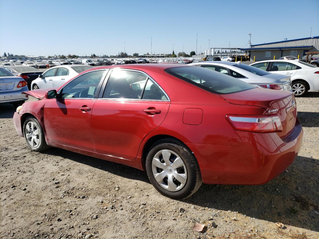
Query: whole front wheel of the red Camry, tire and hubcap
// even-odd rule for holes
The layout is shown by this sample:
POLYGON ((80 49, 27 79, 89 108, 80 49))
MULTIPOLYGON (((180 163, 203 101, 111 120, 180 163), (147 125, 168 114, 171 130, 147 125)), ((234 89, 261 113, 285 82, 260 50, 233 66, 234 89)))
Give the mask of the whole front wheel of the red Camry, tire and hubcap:
POLYGON ((45 142, 42 127, 37 119, 30 116, 23 123, 23 133, 26 145, 35 152, 41 152, 50 147, 45 142))

